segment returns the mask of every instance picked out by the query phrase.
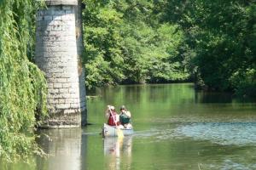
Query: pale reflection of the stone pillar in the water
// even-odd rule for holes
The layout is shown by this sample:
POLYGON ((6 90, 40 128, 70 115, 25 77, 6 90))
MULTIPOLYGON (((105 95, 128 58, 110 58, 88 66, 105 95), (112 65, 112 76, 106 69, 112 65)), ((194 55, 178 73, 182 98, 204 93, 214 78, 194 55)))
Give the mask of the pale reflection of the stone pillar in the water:
POLYGON ((49 158, 38 158, 38 169, 81 169, 81 129, 50 129, 41 133, 45 135, 42 135, 38 143, 49 154, 49 158))

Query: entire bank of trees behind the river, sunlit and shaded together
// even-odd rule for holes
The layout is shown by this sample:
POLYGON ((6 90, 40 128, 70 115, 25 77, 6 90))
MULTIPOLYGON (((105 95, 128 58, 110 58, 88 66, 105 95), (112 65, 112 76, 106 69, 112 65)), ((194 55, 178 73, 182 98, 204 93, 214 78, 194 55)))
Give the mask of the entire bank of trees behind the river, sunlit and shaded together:
POLYGON ((87 88, 194 77, 208 89, 255 89, 253 0, 84 3, 87 88))

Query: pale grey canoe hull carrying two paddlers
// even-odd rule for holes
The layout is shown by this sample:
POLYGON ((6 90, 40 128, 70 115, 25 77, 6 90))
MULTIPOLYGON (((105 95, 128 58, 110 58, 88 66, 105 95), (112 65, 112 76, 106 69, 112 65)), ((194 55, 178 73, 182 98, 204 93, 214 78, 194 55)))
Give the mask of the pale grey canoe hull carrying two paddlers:
MULTIPOLYGON (((133 127, 131 128, 120 128, 124 135, 131 135, 133 133, 133 127)), ((108 124, 104 123, 104 126, 102 127, 102 135, 103 137, 108 137, 108 136, 118 136, 117 135, 117 128, 109 126, 108 124)))

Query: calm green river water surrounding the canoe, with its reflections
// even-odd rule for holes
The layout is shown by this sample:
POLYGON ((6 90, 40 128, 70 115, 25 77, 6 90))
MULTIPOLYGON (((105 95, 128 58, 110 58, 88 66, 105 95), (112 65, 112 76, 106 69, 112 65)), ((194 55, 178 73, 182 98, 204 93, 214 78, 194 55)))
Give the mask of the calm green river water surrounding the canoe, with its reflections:
POLYGON ((256 169, 256 102, 195 91, 191 83, 100 88, 83 129, 41 130, 48 158, 9 169, 256 169), (102 139, 107 105, 131 111, 134 135, 102 139))

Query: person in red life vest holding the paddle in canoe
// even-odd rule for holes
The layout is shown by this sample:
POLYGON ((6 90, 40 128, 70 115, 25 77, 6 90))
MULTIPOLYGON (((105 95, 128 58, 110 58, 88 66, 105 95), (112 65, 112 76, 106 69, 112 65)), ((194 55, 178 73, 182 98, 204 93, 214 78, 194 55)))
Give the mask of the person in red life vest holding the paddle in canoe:
POLYGON ((119 126, 119 114, 117 114, 113 105, 108 105, 106 117, 108 119, 109 126, 119 126))

